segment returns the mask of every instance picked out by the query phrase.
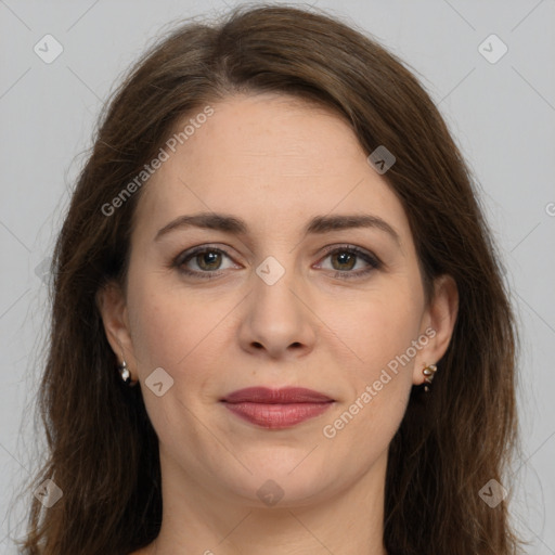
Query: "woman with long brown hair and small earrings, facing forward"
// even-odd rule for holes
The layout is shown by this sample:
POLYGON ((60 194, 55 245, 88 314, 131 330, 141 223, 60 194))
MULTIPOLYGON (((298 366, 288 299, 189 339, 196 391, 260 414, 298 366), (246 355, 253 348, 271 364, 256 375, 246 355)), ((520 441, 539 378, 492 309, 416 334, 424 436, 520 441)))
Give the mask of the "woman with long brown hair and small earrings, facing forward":
POLYGON ((26 554, 518 553, 515 331, 433 102, 323 13, 186 24, 55 249, 26 554))

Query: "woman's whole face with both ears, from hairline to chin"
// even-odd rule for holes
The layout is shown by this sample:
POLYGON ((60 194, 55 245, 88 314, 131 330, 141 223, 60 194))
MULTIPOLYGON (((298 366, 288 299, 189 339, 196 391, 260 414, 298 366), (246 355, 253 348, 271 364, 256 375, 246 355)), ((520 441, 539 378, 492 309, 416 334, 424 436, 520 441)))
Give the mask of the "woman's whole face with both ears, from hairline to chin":
POLYGON ((211 107, 144 185, 126 294, 102 308, 163 477, 282 506, 383 480, 411 387, 447 348, 453 286, 426 306, 403 208, 337 116, 270 94, 211 107), (210 227, 185 222, 199 214, 210 227), (223 401, 251 387, 332 402, 223 401))

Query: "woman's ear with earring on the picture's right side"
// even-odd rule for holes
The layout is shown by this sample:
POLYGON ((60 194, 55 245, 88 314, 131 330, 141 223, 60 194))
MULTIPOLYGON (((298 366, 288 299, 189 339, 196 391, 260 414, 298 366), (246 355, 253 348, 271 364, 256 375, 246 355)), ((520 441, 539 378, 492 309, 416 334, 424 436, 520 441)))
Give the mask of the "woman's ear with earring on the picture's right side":
POLYGON ((413 384, 424 383, 422 371, 443 357, 451 341, 459 312, 459 289, 451 275, 439 275, 434 281, 434 294, 424 313, 422 336, 428 343, 418 351, 414 365, 413 384))

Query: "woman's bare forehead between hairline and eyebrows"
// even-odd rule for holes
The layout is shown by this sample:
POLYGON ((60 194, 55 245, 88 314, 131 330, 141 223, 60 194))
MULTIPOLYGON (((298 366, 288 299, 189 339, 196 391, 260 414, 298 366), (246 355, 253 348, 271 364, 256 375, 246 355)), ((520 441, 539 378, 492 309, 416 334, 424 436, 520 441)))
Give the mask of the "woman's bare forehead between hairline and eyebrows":
POLYGON ((195 117, 202 106, 176 127, 189 125, 191 134, 176 152, 166 149, 167 160, 146 183, 135 215, 142 229, 218 211, 249 221, 254 231, 281 233, 300 230, 312 216, 361 212, 387 218, 401 238, 410 235, 399 199, 331 109, 274 94, 210 107, 209 117, 195 117))

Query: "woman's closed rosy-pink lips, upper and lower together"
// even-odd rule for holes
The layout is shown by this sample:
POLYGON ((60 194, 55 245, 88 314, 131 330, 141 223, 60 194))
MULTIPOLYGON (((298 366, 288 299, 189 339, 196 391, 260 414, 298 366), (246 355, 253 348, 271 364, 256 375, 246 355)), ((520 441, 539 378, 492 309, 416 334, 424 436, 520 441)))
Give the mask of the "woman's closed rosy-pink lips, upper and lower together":
POLYGON ((249 387, 233 391, 221 402, 236 416, 251 424, 282 429, 323 414, 334 400, 301 387, 249 387))

